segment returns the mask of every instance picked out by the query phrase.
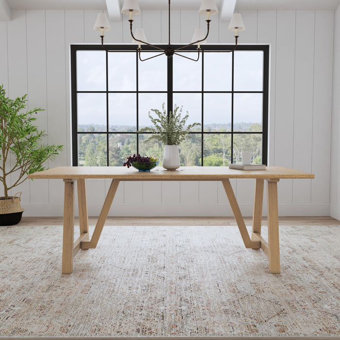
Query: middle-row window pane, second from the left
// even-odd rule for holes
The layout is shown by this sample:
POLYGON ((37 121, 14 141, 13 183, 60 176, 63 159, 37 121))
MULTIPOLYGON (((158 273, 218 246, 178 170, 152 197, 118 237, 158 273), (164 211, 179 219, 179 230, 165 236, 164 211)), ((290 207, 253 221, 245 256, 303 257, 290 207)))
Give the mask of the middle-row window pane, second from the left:
POLYGON ((136 93, 109 93, 109 131, 136 131, 136 93))

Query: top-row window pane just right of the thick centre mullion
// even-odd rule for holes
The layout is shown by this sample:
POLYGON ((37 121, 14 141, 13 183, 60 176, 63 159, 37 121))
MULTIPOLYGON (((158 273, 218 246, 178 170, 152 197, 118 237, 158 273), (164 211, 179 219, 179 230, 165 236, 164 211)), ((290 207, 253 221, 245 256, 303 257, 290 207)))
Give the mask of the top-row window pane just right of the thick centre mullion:
MULTIPOLYGON (((178 53, 180 53, 178 51, 178 53)), ((181 53, 189 58, 197 58, 197 53, 181 53)), ((174 55, 173 59, 173 90, 201 91, 202 90, 202 58, 194 62, 174 55)))

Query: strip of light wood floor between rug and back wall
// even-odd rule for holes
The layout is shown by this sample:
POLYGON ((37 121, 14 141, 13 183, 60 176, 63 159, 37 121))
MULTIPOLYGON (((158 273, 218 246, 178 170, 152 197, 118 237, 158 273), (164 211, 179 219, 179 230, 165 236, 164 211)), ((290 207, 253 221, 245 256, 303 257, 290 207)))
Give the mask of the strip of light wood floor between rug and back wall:
MULTIPOLYGON (((89 225, 95 225, 97 217, 89 218, 89 225)), ((245 217, 246 225, 252 224, 251 217, 245 217)), ((78 218, 75 219, 75 224, 78 218)), ((340 221, 329 216, 280 217, 281 225, 340 225, 340 221)), ((17 225, 63 225, 62 217, 25 217, 17 225)), ((233 217, 108 217, 105 225, 236 225, 233 217)), ((262 225, 267 225, 267 217, 262 225)))

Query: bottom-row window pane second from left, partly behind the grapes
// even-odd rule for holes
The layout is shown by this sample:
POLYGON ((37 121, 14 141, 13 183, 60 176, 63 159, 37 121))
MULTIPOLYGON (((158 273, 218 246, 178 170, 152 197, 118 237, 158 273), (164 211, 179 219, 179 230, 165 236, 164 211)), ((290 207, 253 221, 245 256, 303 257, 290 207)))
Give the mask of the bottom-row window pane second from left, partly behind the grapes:
POLYGON ((137 152, 136 135, 110 134, 109 135, 109 166, 122 167, 125 157, 137 152))

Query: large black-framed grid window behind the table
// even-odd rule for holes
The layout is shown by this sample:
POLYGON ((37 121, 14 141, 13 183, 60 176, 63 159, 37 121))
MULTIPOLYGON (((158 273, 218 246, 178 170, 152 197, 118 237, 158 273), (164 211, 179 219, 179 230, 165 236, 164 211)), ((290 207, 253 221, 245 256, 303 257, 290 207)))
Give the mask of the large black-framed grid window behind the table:
MULTIPOLYGON (((136 46, 71 45, 72 164, 120 166, 132 153, 162 158, 145 143, 151 109, 183 105, 200 122, 180 145, 181 165, 228 166, 252 151, 267 164, 269 46, 206 45, 198 62, 174 56, 138 60, 136 46)), ((143 46, 144 56, 155 52, 143 46)), ((195 51, 185 51, 188 56, 195 51)))

